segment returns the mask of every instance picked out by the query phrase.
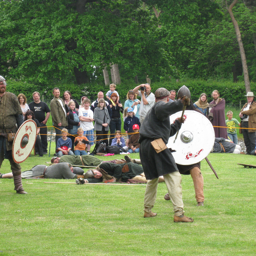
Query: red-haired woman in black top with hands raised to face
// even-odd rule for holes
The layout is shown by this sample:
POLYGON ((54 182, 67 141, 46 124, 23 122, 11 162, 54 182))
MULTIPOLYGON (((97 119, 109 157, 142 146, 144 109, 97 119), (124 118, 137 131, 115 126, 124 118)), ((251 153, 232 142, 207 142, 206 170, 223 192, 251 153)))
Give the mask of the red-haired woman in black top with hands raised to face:
POLYGON ((109 145, 111 145, 112 140, 115 137, 116 131, 121 131, 122 121, 121 121, 120 112, 123 113, 124 108, 120 100, 117 100, 116 93, 111 94, 110 100, 108 100, 108 104, 112 109, 112 116, 109 124, 109 129, 110 129, 109 145))

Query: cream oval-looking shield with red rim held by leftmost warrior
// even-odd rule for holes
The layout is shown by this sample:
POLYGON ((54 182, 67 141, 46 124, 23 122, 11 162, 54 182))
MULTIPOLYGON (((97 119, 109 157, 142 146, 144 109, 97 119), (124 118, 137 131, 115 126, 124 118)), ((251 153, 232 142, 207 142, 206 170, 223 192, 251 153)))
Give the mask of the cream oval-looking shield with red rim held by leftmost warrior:
POLYGON ((24 162, 31 153, 36 140, 35 121, 26 120, 20 125, 12 144, 12 157, 15 163, 24 162))

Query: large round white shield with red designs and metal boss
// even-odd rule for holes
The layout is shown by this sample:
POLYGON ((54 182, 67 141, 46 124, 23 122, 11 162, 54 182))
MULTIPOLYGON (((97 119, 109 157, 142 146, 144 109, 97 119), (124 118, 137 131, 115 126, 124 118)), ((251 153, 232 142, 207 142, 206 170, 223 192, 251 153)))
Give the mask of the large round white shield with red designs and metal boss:
MULTIPOLYGON (((180 117, 182 111, 170 116, 171 124, 180 117)), ((175 163, 190 165, 203 160, 211 152, 214 145, 215 133, 211 122, 201 113, 186 110, 183 117, 185 122, 175 136, 169 138, 168 148, 176 150, 172 152, 175 163), (175 143, 174 143, 175 140, 175 143)))

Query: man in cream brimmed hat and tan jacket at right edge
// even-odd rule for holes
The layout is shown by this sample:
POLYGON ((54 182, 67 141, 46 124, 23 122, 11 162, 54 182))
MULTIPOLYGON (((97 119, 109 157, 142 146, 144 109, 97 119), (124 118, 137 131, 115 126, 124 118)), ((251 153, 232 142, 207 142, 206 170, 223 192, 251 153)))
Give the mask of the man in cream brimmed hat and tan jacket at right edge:
POLYGON ((241 118, 241 129, 246 146, 246 154, 252 154, 255 151, 256 144, 256 102, 254 101, 253 92, 247 92, 247 103, 244 104, 239 117, 241 118))

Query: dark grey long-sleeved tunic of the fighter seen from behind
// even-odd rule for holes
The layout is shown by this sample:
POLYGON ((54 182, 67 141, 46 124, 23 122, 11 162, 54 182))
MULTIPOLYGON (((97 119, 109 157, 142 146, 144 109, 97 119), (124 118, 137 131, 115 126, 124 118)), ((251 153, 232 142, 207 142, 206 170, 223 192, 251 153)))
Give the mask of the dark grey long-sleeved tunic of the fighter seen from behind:
POLYGON ((183 104, 180 100, 175 102, 157 102, 148 114, 140 128, 140 160, 147 180, 178 171, 171 151, 167 148, 160 153, 154 150, 151 141, 162 138, 167 144, 169 137, 173 136, 181 127, 176 120, 171 125, 169 116, 181 111, 183 104))

